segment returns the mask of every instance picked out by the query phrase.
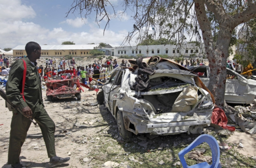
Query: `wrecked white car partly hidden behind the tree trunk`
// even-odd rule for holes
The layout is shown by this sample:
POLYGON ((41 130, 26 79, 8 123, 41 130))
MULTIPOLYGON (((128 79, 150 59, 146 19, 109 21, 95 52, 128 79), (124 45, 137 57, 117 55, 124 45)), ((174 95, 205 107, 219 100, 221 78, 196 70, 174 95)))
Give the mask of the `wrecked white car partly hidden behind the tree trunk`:
MULTIPOLYGON (((197 73, 208 87, 210 82, 210 68, 208 66, 191 66, 189 70, 197 73)), ((227 68, 227 73, 232 76, 226 80, 225 100, 227 103, 250 104, 256 98, 256 82, 246 79, 242 75, 227 68)))

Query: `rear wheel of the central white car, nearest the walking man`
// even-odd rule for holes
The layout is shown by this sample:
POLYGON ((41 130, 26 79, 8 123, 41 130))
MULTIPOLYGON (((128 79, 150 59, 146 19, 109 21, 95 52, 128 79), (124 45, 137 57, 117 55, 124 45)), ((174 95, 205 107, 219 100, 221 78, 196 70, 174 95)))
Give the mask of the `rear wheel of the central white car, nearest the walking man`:
POLYGON ((129 140, 132 137, 132 132, 127 131, 125 129, 123 112, 118 110, 116 115, 116 123, 118 127, 118 131, 124 140, 129 140))

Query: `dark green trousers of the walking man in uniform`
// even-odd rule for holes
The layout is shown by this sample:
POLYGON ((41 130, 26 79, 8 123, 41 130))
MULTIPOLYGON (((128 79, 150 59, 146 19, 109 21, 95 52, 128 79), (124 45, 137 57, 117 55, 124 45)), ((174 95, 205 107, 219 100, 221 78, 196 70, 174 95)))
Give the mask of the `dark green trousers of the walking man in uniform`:
MULTIPOLYGON (((38 123, 42 131, 48 157, 56 156, 54 139, 55 124, 47 114, 42 104, 39 103, 37 105, 35 112, 33 112, 32 118, 34 118, 34 120, 38 123)), ((13 111, 8 164, 19 163, 21 147, 25 142, 30 124, 31 121, 28 118, 24 117, 24 115, 20 114, 16 110, 13 111)))

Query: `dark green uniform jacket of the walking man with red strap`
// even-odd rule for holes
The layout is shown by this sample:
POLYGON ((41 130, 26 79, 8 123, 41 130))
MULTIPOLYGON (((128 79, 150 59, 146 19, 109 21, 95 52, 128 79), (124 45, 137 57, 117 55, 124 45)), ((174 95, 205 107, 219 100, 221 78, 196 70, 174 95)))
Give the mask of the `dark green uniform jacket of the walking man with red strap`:
POLYGON ((40 76, 37 71, 37 67, 35 67, 28 57, 23 58, 27 65, 27 73, 26 73, 26 81, 24 88, 24 97, 26 102, 23 100, 22 95, 22 79, 23 79, 23 70, 24 63, 23 60, 18 59, 12 64, 9 78, 6 83, 6 95, 7 98, 16 106, 20 108, 24 108, 29 106, 32 112, 37 111, 36 106, 41 102, 43 104, 42 99, 42 87, 40 76))

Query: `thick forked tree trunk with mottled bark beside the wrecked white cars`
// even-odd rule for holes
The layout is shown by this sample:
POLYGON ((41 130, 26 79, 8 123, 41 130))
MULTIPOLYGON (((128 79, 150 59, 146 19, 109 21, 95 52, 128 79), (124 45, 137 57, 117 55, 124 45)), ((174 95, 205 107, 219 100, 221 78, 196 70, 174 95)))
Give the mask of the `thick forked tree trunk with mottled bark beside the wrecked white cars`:
POLYGON ((245 11, 233 17, 227 15, 222 5, 217 4, 213 0, 194 0, 195 11, 200 29, 202 31, 205 53, 209 61, 210 67, 210 82, 209 90, 215 98, 215 104, 224 109, 224 96, 226 87, 226 62, 228 58, 229 43, 232 37, 232 31, 239 24, 249 21, 255 17, 255 4, 248 0, 251 4, 245 11), (208 10, 214 13, 219 23, 219 32, 217 42, 214 45, 211 23, 206 15, 208 10))

